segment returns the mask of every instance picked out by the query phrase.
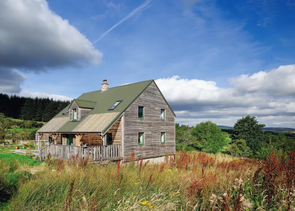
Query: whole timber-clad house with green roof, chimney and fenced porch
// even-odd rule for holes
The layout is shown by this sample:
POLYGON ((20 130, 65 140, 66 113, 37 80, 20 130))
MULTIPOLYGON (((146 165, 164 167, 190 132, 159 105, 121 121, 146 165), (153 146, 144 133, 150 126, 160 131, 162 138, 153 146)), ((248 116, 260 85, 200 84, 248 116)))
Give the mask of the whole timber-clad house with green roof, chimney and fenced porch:
POLYGON ((37 130, 40 161, 48 154, 128 161, 175 154, 175 117, 154 80, 87 92, 37 130), (52 144, 40 145, 44 135, 52 144), (133 154, 133 153, 132 153, 133 154))

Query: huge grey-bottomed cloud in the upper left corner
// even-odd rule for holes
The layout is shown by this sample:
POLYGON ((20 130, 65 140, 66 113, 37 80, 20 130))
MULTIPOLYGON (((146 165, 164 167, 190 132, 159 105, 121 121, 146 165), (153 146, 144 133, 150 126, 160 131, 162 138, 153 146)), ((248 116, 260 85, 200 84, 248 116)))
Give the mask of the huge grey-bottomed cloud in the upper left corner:
POLYGON ((0 1, 0 66, 25 70, 99 64, 102 53, 45 0, 0 1))

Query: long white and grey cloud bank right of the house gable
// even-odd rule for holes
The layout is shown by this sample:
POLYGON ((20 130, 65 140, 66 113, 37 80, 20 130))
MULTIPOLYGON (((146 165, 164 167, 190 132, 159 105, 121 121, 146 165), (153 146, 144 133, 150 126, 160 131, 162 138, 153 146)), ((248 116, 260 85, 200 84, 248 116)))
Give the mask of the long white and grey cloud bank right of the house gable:
POLYGON ((295 81, 294 65, 252 76, 241 75, 229 81, 234 87, 221 88, 214 81, 179 76, 160 78, 156 83, 181 124, 195 125, 210 120, 233 125, 237 119, 251 115, 268 126, 295 127, 295 85, 291 83, 295 81))

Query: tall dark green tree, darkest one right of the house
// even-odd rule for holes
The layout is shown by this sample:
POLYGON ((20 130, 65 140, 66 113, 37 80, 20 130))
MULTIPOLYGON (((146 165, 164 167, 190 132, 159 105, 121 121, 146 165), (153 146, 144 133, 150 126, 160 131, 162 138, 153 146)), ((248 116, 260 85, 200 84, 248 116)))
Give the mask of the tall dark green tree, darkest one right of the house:
POLYGON ((242 117, 237 120, 232 129, 232 138, 234 140, 244 139, 251 151, 260 149, 261 144, 265 141, 264 131, 261 129, 265 124, 258 124, 255 117, 242 117))

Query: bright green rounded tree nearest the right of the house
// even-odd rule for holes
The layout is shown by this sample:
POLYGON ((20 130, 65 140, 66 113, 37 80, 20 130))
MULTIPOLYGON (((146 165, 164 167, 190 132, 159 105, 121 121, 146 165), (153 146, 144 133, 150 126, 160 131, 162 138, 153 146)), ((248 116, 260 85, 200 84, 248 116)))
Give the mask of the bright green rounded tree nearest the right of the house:
POLYGON ((195 137, 194 147, 207 153, 217 153, 225 145, 225 137, 221 129, 211 121, 201 122, 192 129, 195 137))

